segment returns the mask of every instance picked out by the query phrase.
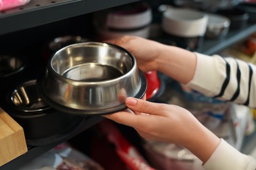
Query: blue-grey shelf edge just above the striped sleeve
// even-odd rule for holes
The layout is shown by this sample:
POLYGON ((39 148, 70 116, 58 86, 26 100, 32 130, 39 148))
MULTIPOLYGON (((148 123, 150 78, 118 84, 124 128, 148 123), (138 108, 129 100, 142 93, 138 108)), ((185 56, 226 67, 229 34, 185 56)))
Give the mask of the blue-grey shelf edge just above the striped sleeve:
POLYGON ((248 24, 242 29, 230 30, 223 39, 205 39, 203 46, 198 52, 206 55, 213 55, 221 52, 225 48, 236 44, 236 42, 246 39, 249 35, 256 32, 256 24, 248 24))

